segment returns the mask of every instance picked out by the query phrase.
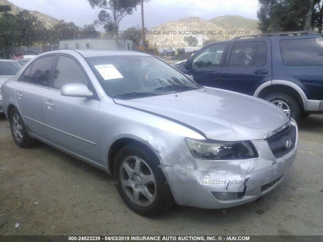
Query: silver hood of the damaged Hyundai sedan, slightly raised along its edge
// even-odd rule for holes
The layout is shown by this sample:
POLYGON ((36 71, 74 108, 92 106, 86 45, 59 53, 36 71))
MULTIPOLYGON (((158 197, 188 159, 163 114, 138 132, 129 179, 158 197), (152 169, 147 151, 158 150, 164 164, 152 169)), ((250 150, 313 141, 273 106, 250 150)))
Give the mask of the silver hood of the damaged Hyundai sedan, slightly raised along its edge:
POLYGON ((117 104, 175 119, 212 140, 263 139, 288 122, 286 114, 270 102, 215 88, 114 100, 117 104))

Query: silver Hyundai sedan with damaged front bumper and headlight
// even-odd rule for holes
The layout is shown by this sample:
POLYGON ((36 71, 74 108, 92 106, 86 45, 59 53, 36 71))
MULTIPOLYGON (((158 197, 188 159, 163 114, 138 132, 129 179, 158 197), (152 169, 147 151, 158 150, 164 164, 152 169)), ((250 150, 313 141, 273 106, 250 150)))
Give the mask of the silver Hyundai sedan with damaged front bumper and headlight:
POLYGON ((297 151, 297 126, 274 104, 199 86, 144 53, 47 52, 6 81, 3 99, 19 147, 40 140, 106 171, 143 216, 253 201, 297 151))

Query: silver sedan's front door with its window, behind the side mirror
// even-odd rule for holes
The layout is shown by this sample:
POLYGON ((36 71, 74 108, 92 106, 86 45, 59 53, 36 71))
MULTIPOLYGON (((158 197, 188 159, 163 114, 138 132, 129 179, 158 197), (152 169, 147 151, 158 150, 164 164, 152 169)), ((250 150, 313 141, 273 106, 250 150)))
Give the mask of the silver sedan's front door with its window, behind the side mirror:
POLYGON ((89 161, 97 161, 99 100, 93 97, 62 96, 66 84, 80 83, 94 93, 81 64, 70 55, 60 55, 52 89, 44 96, 43 110, 50 142, 89 161))

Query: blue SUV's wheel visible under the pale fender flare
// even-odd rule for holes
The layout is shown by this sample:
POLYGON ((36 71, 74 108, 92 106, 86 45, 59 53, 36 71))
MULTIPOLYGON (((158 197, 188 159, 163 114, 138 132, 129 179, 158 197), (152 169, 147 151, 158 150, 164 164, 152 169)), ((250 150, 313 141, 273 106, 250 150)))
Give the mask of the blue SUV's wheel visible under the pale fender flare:
POLYGON ((298 121, 300 117, 300 106, 297 100, 285 93, 273 93, 265 98, 265 100, 274 103, 283 109, 288 117, 292 117, 298 121))

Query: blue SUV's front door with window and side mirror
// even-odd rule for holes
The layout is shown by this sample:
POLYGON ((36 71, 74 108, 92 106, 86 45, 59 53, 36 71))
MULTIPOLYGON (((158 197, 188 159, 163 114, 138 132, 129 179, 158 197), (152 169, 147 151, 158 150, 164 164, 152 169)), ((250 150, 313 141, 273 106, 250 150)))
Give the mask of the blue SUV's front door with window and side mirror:
POLYGON ((190 73, 196 83, 207 87, 219 87, 227 43, 210 45, 193 55, 190 73))

